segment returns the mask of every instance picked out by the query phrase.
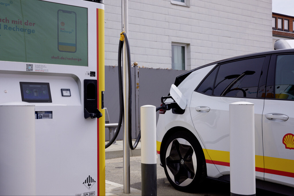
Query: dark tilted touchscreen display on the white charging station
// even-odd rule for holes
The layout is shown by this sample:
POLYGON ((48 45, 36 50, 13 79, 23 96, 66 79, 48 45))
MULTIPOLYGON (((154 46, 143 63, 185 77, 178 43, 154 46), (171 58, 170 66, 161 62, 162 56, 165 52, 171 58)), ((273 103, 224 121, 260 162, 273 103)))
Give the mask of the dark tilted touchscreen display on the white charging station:
POLYGON ((52 103, 49 83, 19 82, 21 99, 30 103, 52 103))

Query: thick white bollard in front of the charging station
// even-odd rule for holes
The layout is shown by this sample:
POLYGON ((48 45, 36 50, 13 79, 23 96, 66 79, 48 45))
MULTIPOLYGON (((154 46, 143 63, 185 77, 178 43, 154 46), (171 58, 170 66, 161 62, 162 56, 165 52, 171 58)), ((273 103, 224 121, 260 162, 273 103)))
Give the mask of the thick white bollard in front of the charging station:
POLYGON ((34 104, 0 104, 0 195, 36 195, 34 104))

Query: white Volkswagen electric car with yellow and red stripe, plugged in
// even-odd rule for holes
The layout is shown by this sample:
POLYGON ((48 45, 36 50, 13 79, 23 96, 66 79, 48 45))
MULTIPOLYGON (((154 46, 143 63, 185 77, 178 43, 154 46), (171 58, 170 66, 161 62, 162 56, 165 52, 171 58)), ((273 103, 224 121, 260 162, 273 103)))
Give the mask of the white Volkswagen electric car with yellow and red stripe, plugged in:
POLYGON ((186 108, 160 112, 156 140, 176 189, 195 191, 205 177, 229 181, 228 110, 237 101, 254 103, 256 179, 294 187, 294 49, 210 63, 175 86, 186 108))

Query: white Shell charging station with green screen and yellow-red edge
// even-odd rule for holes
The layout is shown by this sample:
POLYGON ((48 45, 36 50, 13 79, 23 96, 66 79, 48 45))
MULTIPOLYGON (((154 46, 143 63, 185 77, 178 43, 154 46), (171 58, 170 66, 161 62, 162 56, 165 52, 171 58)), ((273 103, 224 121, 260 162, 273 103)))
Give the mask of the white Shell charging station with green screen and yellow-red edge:
MULTIPOLYGON (((35 108, 35 194, 105 195, 104 5, 3 0, 0 44, 0 105, 29 102, 35 108)), ((24 114, 7 115, 14 126, 24 114)), ((0 128, 0 135, 5 131, 0 128)), ((0 171, 5 166, 0 157, 0 171)), ((12 168, 17 179, 20 168, 12 168)), ((0 187, 4 195, 18 185, 0 187)))

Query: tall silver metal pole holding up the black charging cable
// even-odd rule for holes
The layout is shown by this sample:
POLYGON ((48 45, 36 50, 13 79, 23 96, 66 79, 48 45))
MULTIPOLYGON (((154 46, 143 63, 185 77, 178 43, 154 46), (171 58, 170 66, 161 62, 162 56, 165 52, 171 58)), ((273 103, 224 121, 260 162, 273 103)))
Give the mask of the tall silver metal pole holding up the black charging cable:
MULTIPOLYGON (((128 35, 128 0, 122 0, 121 4, 123 31, 128 35)), ((124 101, 124 134, 123 134, 123 193, 130 193, 130 148, 128 141, 128 65, 126 54, 126 42, 123 47, 123 101, 124 101)))

